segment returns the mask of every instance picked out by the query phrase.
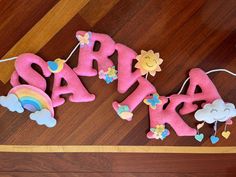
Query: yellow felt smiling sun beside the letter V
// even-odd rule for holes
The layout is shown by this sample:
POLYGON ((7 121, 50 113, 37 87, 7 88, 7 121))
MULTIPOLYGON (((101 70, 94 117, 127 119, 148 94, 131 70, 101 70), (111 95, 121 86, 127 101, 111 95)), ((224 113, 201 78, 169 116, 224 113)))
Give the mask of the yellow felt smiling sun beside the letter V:
POLYGON ((135 68, 140 69, 142 75, 150 73, 152 76, 155 76, 157 71, 161 71, 160 65, 163 60, 160 58, 159 53, 154 53, 153 50, 141 50, 141 54, 136 59, 138 62, 135 68))

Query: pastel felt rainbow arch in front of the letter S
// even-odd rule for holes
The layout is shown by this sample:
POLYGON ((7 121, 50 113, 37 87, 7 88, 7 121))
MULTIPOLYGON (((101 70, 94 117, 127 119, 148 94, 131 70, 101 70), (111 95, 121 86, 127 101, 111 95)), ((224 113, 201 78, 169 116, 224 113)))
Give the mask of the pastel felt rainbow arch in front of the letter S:
POLYGON ((54 116, 54 109, 51 99, 39 88, 31 85, 19 85, 12 88, 9 91, 9 94, 15 94, 18 97, 22 107, 30 112, 48 109, 51 112, 51 115, 54 116))

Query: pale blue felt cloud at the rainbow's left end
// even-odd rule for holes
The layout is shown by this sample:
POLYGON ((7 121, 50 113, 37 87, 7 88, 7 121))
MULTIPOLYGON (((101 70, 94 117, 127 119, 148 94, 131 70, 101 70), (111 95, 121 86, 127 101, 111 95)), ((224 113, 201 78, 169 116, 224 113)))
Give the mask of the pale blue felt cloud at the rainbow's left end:
POLYGON ((0 105, 6 107, 11 112, 24 112, 24 108, 22 107, 18 97, 15 94, 8 94, 7 96, 0 97, 0 105))

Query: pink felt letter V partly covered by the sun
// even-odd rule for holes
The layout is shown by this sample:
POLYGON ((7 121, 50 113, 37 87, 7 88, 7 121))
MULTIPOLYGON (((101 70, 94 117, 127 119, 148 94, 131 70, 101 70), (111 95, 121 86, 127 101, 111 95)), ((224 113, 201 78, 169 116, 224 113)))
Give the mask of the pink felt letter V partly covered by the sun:
POLYGON ((132 72, 136 52, 123 44, 116 44, 118 51, 118 92, 125 93, 141 77, 140 70, 132 72))

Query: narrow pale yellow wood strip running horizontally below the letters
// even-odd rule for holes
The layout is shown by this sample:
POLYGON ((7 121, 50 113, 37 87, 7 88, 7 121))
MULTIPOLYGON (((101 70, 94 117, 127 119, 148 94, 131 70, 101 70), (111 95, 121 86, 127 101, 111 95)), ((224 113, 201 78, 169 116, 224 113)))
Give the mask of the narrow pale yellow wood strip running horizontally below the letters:
POLYGON ((186 153, 186 154, 232 154, 235 146, 224 147, 191 147, 191 146, 51 146, 51 145, 0 145, 0 152, 113 152, 113 153, 186 153))

